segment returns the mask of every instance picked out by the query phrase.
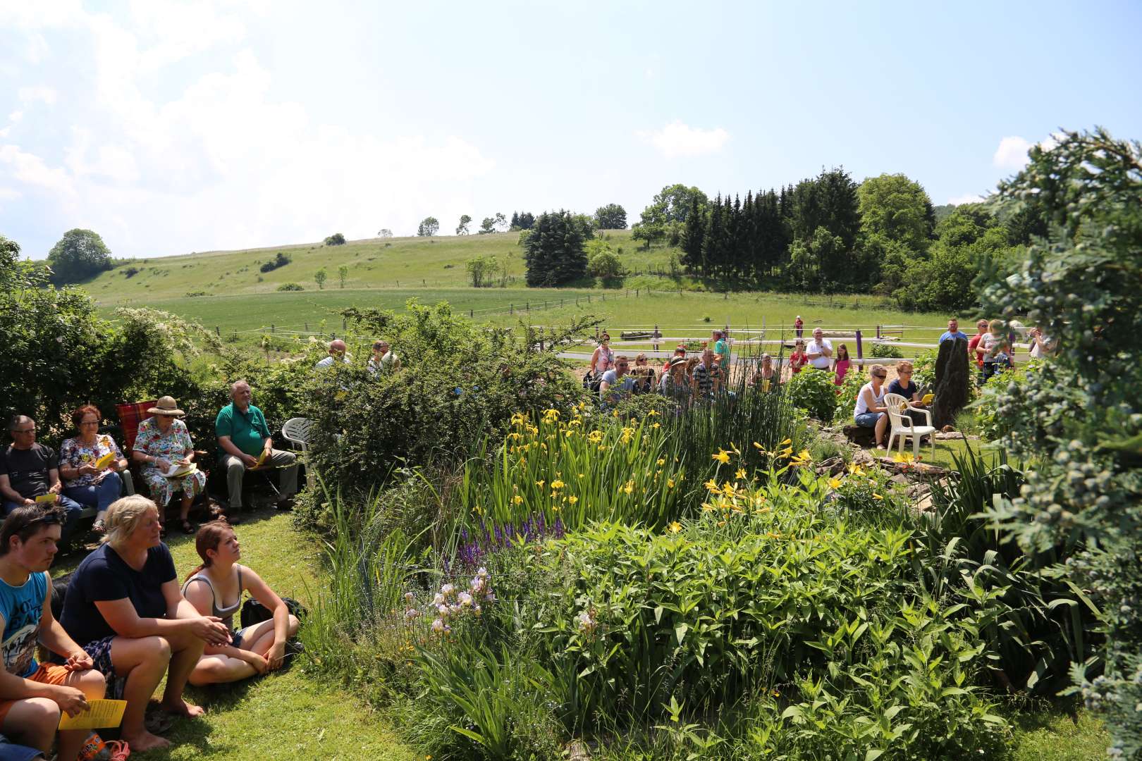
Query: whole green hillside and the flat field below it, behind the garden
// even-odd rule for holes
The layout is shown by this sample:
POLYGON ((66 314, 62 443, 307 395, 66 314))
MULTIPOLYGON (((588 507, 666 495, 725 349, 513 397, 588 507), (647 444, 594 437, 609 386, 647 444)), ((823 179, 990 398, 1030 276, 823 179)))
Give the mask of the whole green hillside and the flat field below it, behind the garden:
MULTIPOLYGON (((629 230, 606 235, 616 250, 622 249, 621 259, 630 272, 665 270, 675 252, 668 248, 644 251, 630 240, 629 230)), ((523 286, 517 240, 517 233, 501 233, 194 253, 128 262, 102 273, 82 288, 105 314, 116 306, 152 307, 193 319, 223 335, 238 333, 251 340, 271 326, 286 333, 339 332, 340 310, 346 307, 399 310, 412 298, 421 303, 448 301, 457 313, 491 324, 565 325, 574 317, 593 316, 616 333, 659 325, 667 337, 708 334, 709 329, 726 324, 732 329, 757 329, 763 324, 773 329, 791 325, 797 315, 805 319, 806 337, 814 325, 859 325, 871 338, 878 324, 934 329, 947 319, 946 315, 903 313, 885 299, 867 296, 829 299, 796 293, 679 292, 668 290, 674 286, 669 278, 645 275, 628 277, 629 288, 622 289, 528 289, 523 286), (291 257, 291 262, 259 272, 260 265, 279 251, 291 257), (476 256, 506 259, 514 283, 508 288, 471 288, 464 265, 476 256), (348 267, 344 289, 337 272, 341 265, 348 267), (128 277, 130 267, 138 272, 128 277), (323 290, 313 280, 321 267, 328 273, 323 290), (278 291, 282 283, 298 283, 305 290, 278 291)), ((933 342, 938 334, 932 330, 898 333, 901 340, 917 342, 933 342)), ((904 354, 915 350, 906 349, 904 354)))

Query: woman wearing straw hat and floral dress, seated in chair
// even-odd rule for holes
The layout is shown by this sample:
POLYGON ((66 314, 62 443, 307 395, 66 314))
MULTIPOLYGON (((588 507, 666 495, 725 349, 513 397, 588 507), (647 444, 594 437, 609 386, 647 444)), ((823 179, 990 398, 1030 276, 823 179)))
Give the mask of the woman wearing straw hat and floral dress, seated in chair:
POLYGON ((183 503, 178 519, 182 521, 183 532, 193 534, 195 526, 188 520, 191 503, 202 493, 207 477, 191 463, 191 458, 194 456, 194 443, 191 440, 190 431, 186 430, 186 423, 179 420, 186 413, 178 408, 175 397, 164 396, 147 410, 147 414, 154 416, 139 423, 131 458, 143 463, 140 475, 155 504, 159 505, 160 532, 166 531, 162 527, 162 518, 166 516, 167 505, 170 504, 175 492, 180 491, 183 503), (190 470, 168 478, 164 473, 170 471, 171 465, 187 465, 190 470))

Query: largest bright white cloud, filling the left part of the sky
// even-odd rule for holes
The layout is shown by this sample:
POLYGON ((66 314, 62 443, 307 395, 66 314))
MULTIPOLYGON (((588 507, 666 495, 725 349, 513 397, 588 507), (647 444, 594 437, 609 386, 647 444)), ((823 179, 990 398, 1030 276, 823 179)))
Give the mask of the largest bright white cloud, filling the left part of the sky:
MULTIPOLYGON (((98 229, 116 256, 335 230, 369 237, 380 227, 411 234, 426 213, 471 212, 471 184, 494 167, 459 135, 378 135, 275 98, 272 72, 242 48, 248 24, 233 3, 146 0, 123 18, 75 8, 51 23, 21 13, 17 27, 80 30, 89 44, 69 46, 69 64, 90 71, 93 90, 58 161, 40 146, 0 144, 0 176, 13 192, 41 195, 66 226, 98 229), (176 60, 193 75, 180 91, 153 95, 154 71, 176 60)), ((0 5, 0 24, 6 14, 0 5)))

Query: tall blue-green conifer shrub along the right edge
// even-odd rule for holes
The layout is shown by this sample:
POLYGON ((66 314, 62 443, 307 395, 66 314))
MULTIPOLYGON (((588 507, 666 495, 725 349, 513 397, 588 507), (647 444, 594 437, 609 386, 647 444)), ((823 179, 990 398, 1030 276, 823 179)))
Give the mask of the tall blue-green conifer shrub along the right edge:
POLYGON ((1067 132, 1000 186, 1054 226, 1019 272, 990 277, 986 306, 1057 337, 1059 351, 1026 383, 997 389, 1028 484, 992 519, 1027 548, 1083 547, 1068 570, 1097 607, 1105 643, 1076 669, 1087 705, 1103 712, 1118 758, 1142 754, 1142 145, 1102 129, 1067 132), (1016 410, 1021 411, 1016 414, 1016 410), (1101 672, 1101 673, 1100 673, 1101 672))

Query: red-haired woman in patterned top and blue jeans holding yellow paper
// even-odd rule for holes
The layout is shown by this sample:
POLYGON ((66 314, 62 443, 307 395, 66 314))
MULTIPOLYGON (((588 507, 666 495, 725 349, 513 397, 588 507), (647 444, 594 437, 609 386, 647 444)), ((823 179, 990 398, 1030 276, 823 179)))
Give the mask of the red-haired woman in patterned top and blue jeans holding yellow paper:
POLYGON ((115 439, 99 434, 103 413, 94 404, 85 404, 72 413, 77 435, 65 439, 59 447, 59 476, 64 480, 64 496, 85 508, 95 508, 91 531, 103 533, 107 507, 119 499, 123 488, 121 472, 127 470, 127 458, 115 439), (110 456, 108 456, 110 455, 110 456))

